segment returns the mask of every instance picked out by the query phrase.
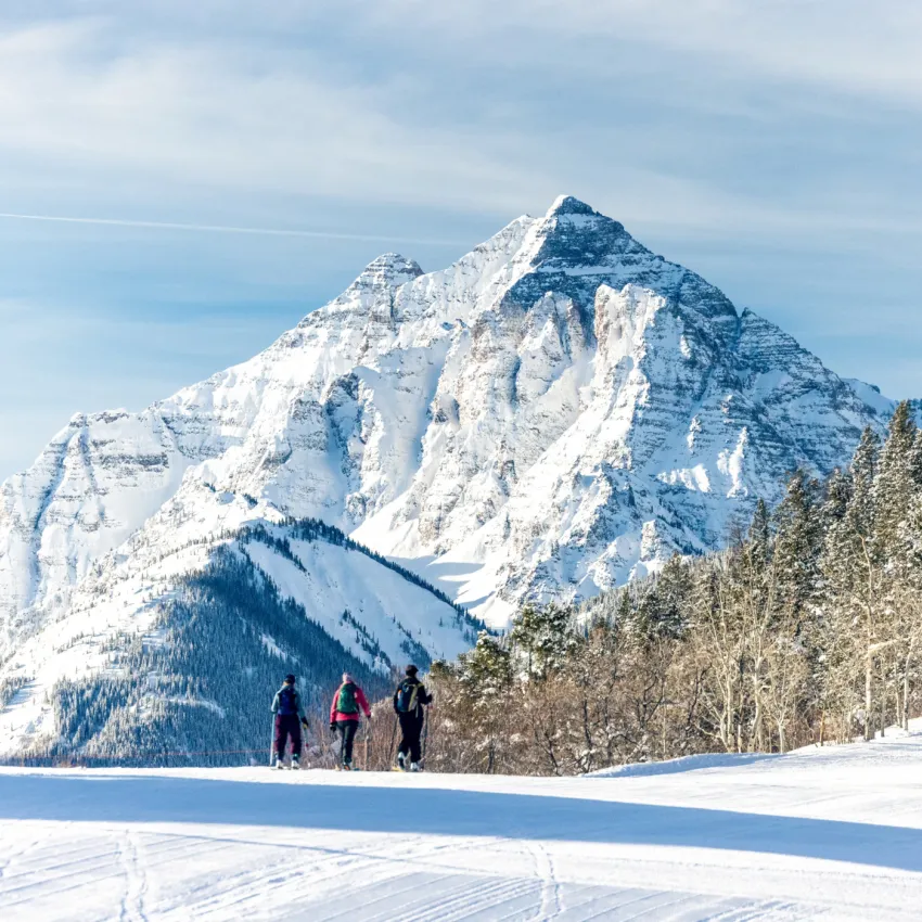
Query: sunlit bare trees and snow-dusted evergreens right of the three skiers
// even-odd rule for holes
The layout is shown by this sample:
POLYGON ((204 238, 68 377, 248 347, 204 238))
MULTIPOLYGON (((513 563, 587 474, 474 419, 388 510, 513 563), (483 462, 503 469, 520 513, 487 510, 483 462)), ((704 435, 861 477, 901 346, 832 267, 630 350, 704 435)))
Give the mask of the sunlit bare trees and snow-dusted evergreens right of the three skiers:
POLYGON ((430 682, 428 767, 571 774, 906 727, 922 694, 922 433, 789 478, 726 550, 579 607, 526 605, 430 682))

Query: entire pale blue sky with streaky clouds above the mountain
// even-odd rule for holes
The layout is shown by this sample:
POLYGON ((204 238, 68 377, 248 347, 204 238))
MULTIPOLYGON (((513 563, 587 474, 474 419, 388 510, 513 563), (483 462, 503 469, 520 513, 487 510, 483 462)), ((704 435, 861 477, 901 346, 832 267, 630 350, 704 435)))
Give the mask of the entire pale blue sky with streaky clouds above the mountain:
POLYGON ((920 41, 909 0, 7 0, 0 213, 127 223, 0 217, 0 478, 562 192, 922 396, 920 41))

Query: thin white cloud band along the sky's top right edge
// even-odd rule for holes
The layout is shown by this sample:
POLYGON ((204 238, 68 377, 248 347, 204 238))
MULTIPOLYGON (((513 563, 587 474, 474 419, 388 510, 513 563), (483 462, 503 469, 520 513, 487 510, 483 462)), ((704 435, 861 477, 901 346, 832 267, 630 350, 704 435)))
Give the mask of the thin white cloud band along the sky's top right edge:
POLYGON ((516 65, 527 57, 535 67, 560 61, 563 69, 612 73, 625 47, 639 42, 651 53, 697 55, 699 66, 731 66, 734 79, 771 77, 922 104, 915 0, 389 0, 369 15, 375 28, 412 20, 427 41, 440 38, 464 54, 501 48, 516 65), (587 42, 586 53, 571 53, 577 42, 587 42), (546 56, 535 56, 539 46, 546 56))

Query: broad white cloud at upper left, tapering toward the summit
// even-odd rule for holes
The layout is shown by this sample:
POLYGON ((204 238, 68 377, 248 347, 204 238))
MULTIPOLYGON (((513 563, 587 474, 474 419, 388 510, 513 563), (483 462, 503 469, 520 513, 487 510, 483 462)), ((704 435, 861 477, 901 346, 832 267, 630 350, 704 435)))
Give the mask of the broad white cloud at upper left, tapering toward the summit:
POLYGON ((399 101, 323 69, 309 51, 240 55, 199 39, 135 36, 77 21, 0 35, 0 152, 72 172, 470 205, 511 201, 528 170, 476 139, 419 135, 399 101), (396 115, 395 115, 396 110, 396 115))

